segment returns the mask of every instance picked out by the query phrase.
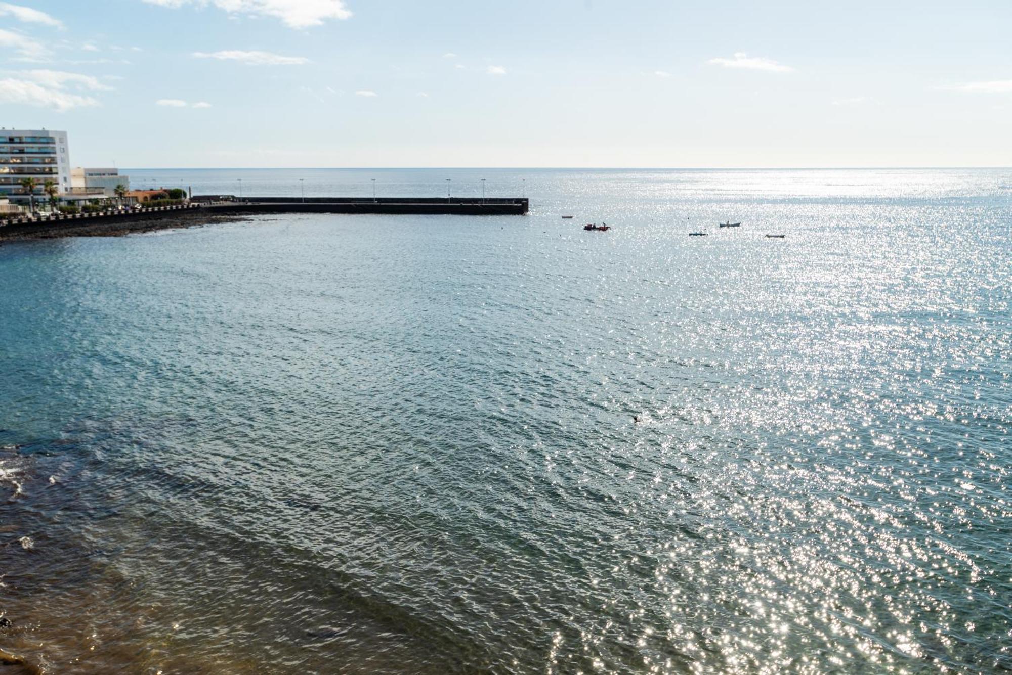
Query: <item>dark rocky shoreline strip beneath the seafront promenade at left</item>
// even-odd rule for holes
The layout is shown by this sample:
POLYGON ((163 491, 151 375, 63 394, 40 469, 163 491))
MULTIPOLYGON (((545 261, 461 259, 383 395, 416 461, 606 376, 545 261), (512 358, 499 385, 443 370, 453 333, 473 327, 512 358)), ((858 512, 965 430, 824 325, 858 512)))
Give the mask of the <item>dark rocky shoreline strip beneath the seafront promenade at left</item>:
POLYGON ((130 214, 118 217, 84 220, 57 220, 0 226, 0 245, 30 239, 56 239, 66 236, 123 236, 158 229, 199 227, 222 222, 249 220, 237 214, 208 213, 204 209, 130 214))

